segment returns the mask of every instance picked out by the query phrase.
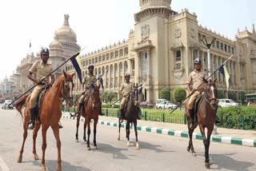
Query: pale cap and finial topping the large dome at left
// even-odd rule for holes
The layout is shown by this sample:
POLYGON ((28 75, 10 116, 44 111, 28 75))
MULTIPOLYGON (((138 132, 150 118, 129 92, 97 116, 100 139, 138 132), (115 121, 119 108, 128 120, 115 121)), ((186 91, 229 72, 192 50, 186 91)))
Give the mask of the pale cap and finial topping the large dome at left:
POLYGON ((64 14, 63 26, 55 31, 55 39, 70 38, 74 42, 77 41, 77 34, 70 28, 69 18, 69 14, 64 14))

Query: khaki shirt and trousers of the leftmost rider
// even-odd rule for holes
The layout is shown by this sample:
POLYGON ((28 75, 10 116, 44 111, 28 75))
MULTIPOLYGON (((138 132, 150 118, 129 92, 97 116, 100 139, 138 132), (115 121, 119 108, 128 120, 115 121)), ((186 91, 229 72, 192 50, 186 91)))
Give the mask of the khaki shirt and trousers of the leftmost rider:
MULTIPOLYGON (((41 80, 42 78, 49 75, 54 70, 53 66, 49 63, 44 64, 43 62, 37 61, 34 62, 33 66, 30 68, 30 73, 36 75, 36 79, 41 80)), ((49 83, 49 77, 45 78, 42 81, 42 84, 49 83)), ((36 101, 38 98, 38 95, 43 88, 44 85, 36 85, 33 89, 33 92, 30 97, 30 109, 34 108, 36 105, 36 101)))

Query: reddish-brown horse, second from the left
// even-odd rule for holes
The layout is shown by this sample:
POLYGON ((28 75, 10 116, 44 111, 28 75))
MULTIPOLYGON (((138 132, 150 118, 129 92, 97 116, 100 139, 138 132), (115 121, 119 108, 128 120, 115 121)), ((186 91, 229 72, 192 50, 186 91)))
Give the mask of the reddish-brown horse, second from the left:
POLYGON ((86 104, 82 106, 85 113, 80 111, 77 116, 77 132, 75 134, 75 137, 78 142, 78 128, 79 128, 79 121, 82 113, 82 117, 85 117, 85 123, 83 126, 84 141, 86 141, 86 127, 88 127, 88 130, 87 130, 87 149, 88 150, 90 150, 90 120, 91 119, 94 120, 94 147, 95 149, 97 149, 96 132, 97 132, 97 124, 98 124, 98 115, 100 113, 100 108, 101 108, 99 88, 100 88, 100 85, 96 85, 93 87, 93 89, 90 89, 90 92, 86 97, 86 104))

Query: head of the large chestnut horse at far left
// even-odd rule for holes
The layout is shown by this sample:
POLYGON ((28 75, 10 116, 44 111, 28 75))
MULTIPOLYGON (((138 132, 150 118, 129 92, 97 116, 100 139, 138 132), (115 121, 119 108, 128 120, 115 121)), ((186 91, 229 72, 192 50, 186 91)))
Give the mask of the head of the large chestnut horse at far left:
POLYGON ((66 107, 73 105, 72 91, 74 88, 73 76, 74 74, 66 74, 63 70, 64 78, 62 80, 62 97, 66 101, 66 107))

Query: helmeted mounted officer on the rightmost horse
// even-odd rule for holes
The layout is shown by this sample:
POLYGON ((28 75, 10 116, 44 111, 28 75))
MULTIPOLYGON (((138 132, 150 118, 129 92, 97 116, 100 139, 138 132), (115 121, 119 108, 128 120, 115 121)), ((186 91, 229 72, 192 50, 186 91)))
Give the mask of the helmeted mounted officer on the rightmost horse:
POLYGON ((207 73, 206 73, 206 71, 202 70, 201 59, 195 58, 194 59, 194 71, 192 71, 190 73, 189 79, 186 82, 186 89, 189 91, 189 93, 191 94, 192 92, 194 92, 190 96, 189 103, 188 103, 188 109, 189 109, 190 117, 191 117, 190 128, 193 127, 194 120, 195 120, 194 109, 193 109, 194 101, 198 97, 198 95, 200 95, 202 89, 205 87, 205 82, 204 82, 203 78, 207 79, 207 73), (192 84, 192 91, 190 89, 191 84, 192 84))

